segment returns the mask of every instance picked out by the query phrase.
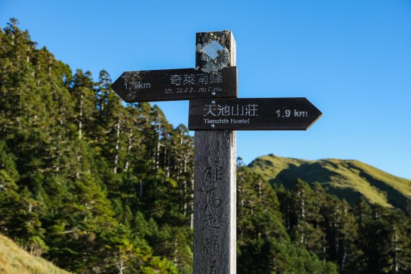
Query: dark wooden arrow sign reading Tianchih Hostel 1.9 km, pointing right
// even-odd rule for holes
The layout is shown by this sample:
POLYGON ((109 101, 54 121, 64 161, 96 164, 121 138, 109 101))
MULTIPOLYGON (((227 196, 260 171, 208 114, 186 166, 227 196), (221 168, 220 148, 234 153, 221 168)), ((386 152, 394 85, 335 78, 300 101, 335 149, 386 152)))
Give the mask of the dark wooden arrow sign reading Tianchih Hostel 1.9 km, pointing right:
POLYGON ((188 129, 306 130, 321 115, 306 98, 192 99, 188 129))

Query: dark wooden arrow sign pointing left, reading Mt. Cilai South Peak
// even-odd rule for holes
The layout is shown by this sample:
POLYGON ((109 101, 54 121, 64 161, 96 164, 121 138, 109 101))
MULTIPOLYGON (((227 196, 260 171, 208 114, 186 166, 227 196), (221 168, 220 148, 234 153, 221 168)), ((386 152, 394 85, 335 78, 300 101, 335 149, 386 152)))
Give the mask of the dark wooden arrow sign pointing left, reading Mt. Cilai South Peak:
POLYGON ((196 69, 126 71, 111 88, 127 103, 237 97, 237 67, 212 73, 196 69))

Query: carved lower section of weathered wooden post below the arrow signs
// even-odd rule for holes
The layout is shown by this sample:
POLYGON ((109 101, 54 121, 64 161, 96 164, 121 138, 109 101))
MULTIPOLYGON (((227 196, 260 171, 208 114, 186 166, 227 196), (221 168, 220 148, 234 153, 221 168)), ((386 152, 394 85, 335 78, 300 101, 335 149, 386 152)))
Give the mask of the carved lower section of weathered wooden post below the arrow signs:
POLYGON ((194 273, 236 273, 236 132, 195 132, 194 273))

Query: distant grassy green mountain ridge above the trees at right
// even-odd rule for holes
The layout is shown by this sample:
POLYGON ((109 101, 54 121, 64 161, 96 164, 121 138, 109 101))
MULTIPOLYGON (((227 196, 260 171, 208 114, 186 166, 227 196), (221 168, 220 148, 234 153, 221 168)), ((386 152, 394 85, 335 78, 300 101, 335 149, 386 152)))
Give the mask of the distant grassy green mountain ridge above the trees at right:
POLYGON ((283 158, 273 154, 253 160, 249 167, 271 184, 290 188, 297 178, 319 182, 327 192, 353 204, 362 196, 370 203, 405 208, 411 199, 411 180, 390 175, 356 160, 317 161, 283 158))

